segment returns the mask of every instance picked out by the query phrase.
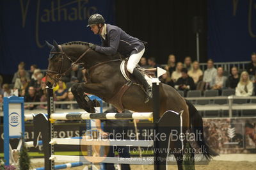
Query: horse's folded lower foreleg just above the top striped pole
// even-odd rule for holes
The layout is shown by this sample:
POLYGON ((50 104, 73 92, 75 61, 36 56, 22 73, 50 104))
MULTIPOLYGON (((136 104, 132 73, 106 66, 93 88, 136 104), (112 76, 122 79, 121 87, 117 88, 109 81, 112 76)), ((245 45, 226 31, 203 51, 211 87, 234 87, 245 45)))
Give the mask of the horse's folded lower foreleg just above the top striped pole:
MULTIPOLYGON (((76 98, 76 101, 77 101, 77 104, 79 105, 79 107, 81 109, 84 109, 84 111, 86 112, 93 112, 93 109, 94 107, 90 107, 88 105, 88 102, 86 101, 86 99, 88 98, 87 95, 84 95, 83 96, 83 91, 79 91, 79 85, 81 83, 77 83, 77 84, 74 84, 71 88, 71 92, 73 93, 74 97, 76 98), (93 108, 93 109, 92 109, 93 108)), ((88 98, 90 100, 90 98, 88 98)), ((92 100, 91 100, 92 102, 92 100)), ((94 112, 95 112, 95 109, 94 109, 94 112)))

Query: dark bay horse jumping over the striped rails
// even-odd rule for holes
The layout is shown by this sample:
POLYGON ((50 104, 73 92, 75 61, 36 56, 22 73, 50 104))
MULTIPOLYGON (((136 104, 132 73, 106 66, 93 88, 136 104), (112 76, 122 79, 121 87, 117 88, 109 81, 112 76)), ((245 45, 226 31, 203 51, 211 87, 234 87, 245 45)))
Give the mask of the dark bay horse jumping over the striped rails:
MULTIPOLYGON (((71 89, 79 107, 87 112, 95 112, 95 102, 84 95, 84 92, 96 95, 106 102, 120 107, 118 102, 113 100, 113 98, 117 98, 116 94, 120 92, 122 86, 127 83, 120 72, 120 63, 122 62, 120 54, 113 56, 100 54, 90 49, 86 42, 68 42, 58 45, 54 41, 53 45, 48 42, 47 45, 51 48, 46 76, 47 84, 54 84, 61 79, 61 76, 70 70, 72 63, 81 64, 86 69, 87 82, 74 84, 71 89)), ((152 112, 152 100, 145 104, 145 95, 138 84, 131 84, 120 100, 124 109, 152 112)), ((181 97, 174 88, 166 84, 159 84, 159 96, 160 116, 166 111, 184 111, 182 114, 183 131, 187 132, 189 129, 194 131, 196 128, 202 130, 202 117, 195 107, 181 97)), ((205 157, 211 158, 216 155, 204 140, 197 144, 206 148, 205 157)), ((174 155, 176 158, 182 157, 182 153, 174 155)), ((177 159, 177 164, 179 169, 183 169, 182 159, 177 159)))

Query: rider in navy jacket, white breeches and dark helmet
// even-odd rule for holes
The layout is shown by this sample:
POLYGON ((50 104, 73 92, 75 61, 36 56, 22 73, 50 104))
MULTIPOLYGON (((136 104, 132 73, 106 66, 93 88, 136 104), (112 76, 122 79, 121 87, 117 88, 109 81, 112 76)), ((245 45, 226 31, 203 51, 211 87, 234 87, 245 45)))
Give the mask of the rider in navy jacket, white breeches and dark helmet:
POLYGON ((113 55, 116 52, 129 57, 127 63, 128 72, 132 73, 147 92, 147 100, 152 98, 152 89, 143 75, 136 69, 145 51, 144 44, 138 39, 125 33, 120 27, 105 24, 102 15, 93 14, 88 20, 88 26, 95 35, 100 35, 102 46, 90 43, 91 49, 106 55, 113 55))

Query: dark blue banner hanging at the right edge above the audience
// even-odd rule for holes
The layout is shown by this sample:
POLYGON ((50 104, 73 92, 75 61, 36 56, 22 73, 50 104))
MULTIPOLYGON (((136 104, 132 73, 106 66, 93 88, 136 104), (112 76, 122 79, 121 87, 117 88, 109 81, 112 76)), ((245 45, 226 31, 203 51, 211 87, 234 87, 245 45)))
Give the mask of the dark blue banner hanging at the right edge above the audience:
POLYGON ((256 52, 256 0, 208 1, 208 58, 250 61, 256 52))

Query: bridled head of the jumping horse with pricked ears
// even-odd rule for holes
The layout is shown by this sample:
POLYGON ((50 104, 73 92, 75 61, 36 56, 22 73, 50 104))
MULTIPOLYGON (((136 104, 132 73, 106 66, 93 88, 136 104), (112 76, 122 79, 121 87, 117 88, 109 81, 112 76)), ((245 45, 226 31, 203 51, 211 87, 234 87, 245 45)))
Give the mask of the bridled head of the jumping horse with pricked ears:
POLYGON ((58 45, 56 41, 53 41, 53 45, 49 42, 46 42, 46 44, 51 49, 48 59, 49 65, 46 72, 46 83, 47 86, 51 87, 54 82, 60 80, 61 76, 70 70, 72 60, 63 52, 63 47, 58 45))

